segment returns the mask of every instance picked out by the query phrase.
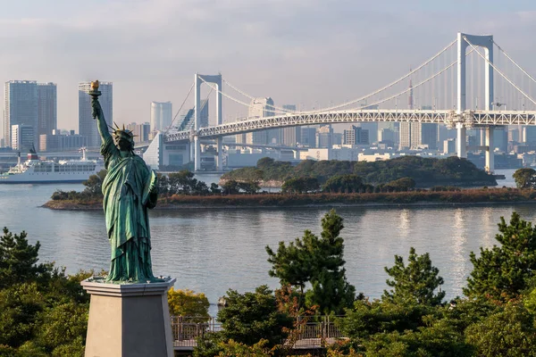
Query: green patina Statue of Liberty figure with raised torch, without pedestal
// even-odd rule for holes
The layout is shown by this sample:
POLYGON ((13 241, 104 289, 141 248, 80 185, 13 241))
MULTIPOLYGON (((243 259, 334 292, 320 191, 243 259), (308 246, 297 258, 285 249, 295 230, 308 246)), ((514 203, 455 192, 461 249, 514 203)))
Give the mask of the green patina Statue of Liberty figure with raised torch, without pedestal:
POLYGON ((113 137, 100 103, 98 80, 91 83, 93 117, 103 140, 101 154, 107 170, 103 182, 106 229, 112 248, 106 282, 115 284, 161 282, 151 264, 148 209, 157 199, 156 175, 134 154, 134 136, 128 129, 113 129, 113 137))

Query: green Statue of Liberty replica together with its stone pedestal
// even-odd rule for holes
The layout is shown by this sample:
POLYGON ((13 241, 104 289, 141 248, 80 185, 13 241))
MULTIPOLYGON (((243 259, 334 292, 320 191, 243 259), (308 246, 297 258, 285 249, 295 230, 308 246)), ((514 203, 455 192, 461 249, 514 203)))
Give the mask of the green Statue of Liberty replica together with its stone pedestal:
POLYGON ((117 125, 112 134, 91 82, 93 117, 103 140, 107 170, 103 206, 112 257, 106 278, 80 284, 91 295, 87 357, 173 357, 167 291, 176 279, 155 278, 151 267, 148 210, 157 199, 156 175, 137 154, 134 135, 117 125))

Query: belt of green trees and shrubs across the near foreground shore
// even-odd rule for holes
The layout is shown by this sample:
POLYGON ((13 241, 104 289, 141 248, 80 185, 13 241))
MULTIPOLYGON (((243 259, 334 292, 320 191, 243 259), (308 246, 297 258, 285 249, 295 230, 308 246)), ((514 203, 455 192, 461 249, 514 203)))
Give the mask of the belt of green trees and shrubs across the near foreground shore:
MULTIPOLYGON (((295 356, 305 321, 326 315, 341 336, 323 341, 314 355, 536 355, 536 227, 516 212, 509 221, 500 218, 497 245, 470 253, 473 271, 464 296, 448 301, 440 270, 413 247, 406 259, 395 255, 394 265, 385 267, 380 298, 357 293, 359 286, 346 278, 343 232, 343 219, 331 211, 320 235, 306 230, 303 237, 266 246, 267 276, 279 279, 279 286, 228 290, 218 331, 203 329, 204 294, 170 290, 176 326, 190 319, 200 327, 193 355, 295 356)), ((93 272, 71 276, 38 262, 39 247, 24 232, 4 228, 0 236, 0 355, 81 357, 89 297, 80 280, 93 272)))

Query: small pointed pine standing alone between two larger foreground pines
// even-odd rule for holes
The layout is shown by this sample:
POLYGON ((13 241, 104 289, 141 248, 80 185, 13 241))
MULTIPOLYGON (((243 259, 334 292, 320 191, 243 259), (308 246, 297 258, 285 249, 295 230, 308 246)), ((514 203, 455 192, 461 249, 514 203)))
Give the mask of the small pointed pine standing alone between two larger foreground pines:
POLYGON ((443 284, 443 278, 439 276, 440 270, 431 265, 430 255, 424 253, 417 255, 412 246, 407 258, 407 266, 404 258, 395 255, 395 265, 385 267, 385 271, 392 280, 387 279, 387 285, 393 289, 383 291, 382 298, 394 303, 423 303, 426 305, 438 305, 445 297, 444 291, 434 294, 434 291, 443 284))

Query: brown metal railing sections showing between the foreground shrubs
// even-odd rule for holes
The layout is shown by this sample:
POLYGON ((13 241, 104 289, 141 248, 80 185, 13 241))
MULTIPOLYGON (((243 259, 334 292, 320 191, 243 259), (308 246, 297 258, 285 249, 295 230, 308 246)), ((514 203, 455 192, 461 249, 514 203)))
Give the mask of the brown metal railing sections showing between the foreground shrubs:
MULTIPOLYGON (((172 316, 175 349, 191 350, 197 345, 197 337, 221 330, 222 324, 214 317, 172 316)), ((293 348, 323 347, 332 344, 338 338, 345 338, 333 322, 332 316, 299 317, 295 334, 289 336, 286 342, 286 344, 293 344, 293 348)))

